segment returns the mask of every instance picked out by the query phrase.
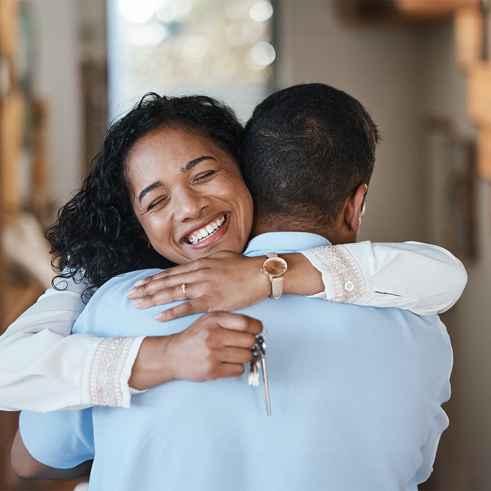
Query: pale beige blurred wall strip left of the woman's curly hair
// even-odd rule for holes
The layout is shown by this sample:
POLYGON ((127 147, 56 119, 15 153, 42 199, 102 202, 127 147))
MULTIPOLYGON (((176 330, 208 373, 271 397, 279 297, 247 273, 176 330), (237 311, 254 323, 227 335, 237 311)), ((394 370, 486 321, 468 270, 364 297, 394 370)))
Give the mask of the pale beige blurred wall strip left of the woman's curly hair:
POLYGON ((52 196, 66 201, 79 183, 82 108, 76 1, 28 0, 33 35, 33 92, 48 103, 52 196))

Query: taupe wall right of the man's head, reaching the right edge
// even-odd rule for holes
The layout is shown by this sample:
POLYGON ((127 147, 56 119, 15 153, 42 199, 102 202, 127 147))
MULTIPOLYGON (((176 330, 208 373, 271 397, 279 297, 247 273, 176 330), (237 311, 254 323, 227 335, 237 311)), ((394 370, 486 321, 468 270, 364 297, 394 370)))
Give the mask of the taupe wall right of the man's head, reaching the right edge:
MULTIPOLYGON (((465 76, 455 62, 451 20, 425 25, 340 22, 334 2, 279 2, 280 87, 326 82, 358 98, 382 133, 361 240, 436 242, 424 120, 449 118, 475 136, 465 113, 465 76)), ((491 186, 477 185, 479 257, 463 257, 464 295, 442 316, 455 355, 451 424, 435 471, 422 489, 490 489, 491 467, 491 186)), ((452 219, 443 216, 439 219, 452 219)), ((445 246, 445 244, 440 244, 445 246)))

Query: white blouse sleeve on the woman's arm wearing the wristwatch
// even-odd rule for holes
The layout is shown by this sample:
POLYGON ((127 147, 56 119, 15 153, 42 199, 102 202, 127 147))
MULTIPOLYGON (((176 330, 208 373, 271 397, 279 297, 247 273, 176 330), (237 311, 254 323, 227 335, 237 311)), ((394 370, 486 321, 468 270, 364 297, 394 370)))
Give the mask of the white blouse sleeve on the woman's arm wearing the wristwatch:
POLYGON ((334 302, 435 315, 454 305, 467 283, 455 256, 420 242, 365 241, 300 252, 322 274, 325 291, 313 297, 334 302))

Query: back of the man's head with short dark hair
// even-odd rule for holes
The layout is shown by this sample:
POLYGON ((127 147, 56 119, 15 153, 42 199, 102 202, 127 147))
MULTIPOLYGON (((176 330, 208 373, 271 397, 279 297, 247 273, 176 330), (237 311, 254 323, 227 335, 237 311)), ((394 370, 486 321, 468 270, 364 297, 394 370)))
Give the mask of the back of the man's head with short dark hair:
POLYGON ((356 240, 377 142, 363 106, 329 85, 295 85, 265 99, 247 122, 242 154, 253 233, 356 240))

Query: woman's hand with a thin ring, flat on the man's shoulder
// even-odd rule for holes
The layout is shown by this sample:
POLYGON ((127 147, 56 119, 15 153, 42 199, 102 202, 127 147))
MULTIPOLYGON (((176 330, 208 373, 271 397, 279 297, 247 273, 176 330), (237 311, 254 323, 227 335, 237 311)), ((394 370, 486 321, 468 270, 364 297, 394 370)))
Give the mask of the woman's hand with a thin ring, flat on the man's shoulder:
POLYGON ((271 294, 271 282, 261 272, 265 256, 246 257, 232 251, 215 252, 188 264, 148 276, 127 292, 136 308, 174 300, 180 305, 157 314, 158 321, 211 311, 247 307, 271 294), (182 285, 186 285, 186 299, 182 285))

